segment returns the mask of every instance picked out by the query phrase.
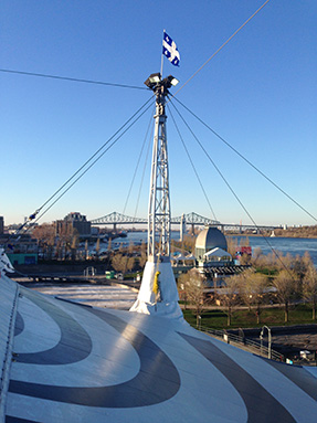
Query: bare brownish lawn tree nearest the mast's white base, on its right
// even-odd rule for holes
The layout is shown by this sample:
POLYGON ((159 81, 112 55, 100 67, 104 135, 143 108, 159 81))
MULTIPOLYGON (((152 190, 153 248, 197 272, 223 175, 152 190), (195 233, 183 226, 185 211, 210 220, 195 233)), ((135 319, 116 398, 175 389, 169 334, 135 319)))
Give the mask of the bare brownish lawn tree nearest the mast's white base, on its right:
POLYGON ((197 268, 192 268, 180 275, 178 286, 181 294, 193 306, 197 326, 199 326, 199 319, 208 303, 204 295, 204 276, 197 268))

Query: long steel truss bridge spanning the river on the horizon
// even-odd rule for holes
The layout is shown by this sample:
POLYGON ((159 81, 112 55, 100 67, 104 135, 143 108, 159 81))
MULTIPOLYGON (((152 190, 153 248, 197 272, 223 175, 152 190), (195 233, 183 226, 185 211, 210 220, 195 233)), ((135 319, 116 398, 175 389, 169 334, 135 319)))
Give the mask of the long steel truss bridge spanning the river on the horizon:
MULTIPOLYGON (((113 212, 109 214, 104 215, 103 218, 94 219, 91 221, 93 225, 107 225, 112 224, 114 228, 114 231, 117 230, 117 225, 125 225, 125 224, 147 224, 148 220, 146 218, 133 218, 129 215, 125 215, 118 212, 113 212)), ((240 224, 240 223, 222 223, 209 218, 204 218, 198 213, 191 212, 187 214, 182 214, 177 218, 171 219, 171 224, 188 224, 191 225, 192 230, 194 226, 204 226, 204 225, 211 225, 211 226, 219 226, 222 231, 231 230, 236 232, 243 232, 245 230, 265 230, 265 231, 273 231, 274 229, 281 228, 281 226, 266 226, 266 225, 250 225, 250 224, 240 224)))

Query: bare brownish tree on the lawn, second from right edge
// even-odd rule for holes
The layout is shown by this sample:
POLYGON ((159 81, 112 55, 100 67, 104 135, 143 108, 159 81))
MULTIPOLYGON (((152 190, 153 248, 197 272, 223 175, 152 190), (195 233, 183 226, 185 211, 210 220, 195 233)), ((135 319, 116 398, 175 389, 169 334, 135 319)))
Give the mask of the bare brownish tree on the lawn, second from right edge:
POLYGON ((273 279, 273 285, 277 289, 277 297, 284 304, 285 322, 288 321, 289 302, 295 297, 297 289, 297 275, 292 269, 282 269, 273 279))

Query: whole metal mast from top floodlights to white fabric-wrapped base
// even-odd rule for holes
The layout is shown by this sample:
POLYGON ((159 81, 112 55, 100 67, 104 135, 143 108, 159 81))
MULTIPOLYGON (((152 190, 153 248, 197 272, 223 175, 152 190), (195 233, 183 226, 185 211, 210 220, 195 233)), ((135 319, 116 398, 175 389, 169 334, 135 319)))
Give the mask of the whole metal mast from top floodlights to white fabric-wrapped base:
POLYGON ((151 74, 145 84, 156 95, 155 135, 148 213, 148 260, 130 311, 182 319, 177 284, 170 262, 170 200, 166 134, 166 98, 176 85, 173 76, 151 74))

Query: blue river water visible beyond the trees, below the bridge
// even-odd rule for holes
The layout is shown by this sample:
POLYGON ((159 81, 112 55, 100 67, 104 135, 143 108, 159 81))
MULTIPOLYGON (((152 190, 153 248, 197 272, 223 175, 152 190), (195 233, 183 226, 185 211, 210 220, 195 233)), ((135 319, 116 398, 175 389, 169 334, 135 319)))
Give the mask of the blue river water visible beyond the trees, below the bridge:
MULTIPOLYGON (((179 240, 179 232, 172 231, 171 237, 179 240)), ((237 243, 243 245, 246 236, 233 236, 237 240, 237 243)), ((261 248, 264 254, 272 253, 272 248, 282 252, 284 255, 289 253, 294 257, 296 255, 303 256, 306 251, 310 254, 314 265, 317 267, 317 239, 304 239, 304 237, 267 237, 263 236, 247 236, 249 243, 252 246, 252 251, 261 248)), ((128 232, 127 237, 114 240, 116 243, 130 242, 139 243, 147 241, 147 232, 128 232)))

